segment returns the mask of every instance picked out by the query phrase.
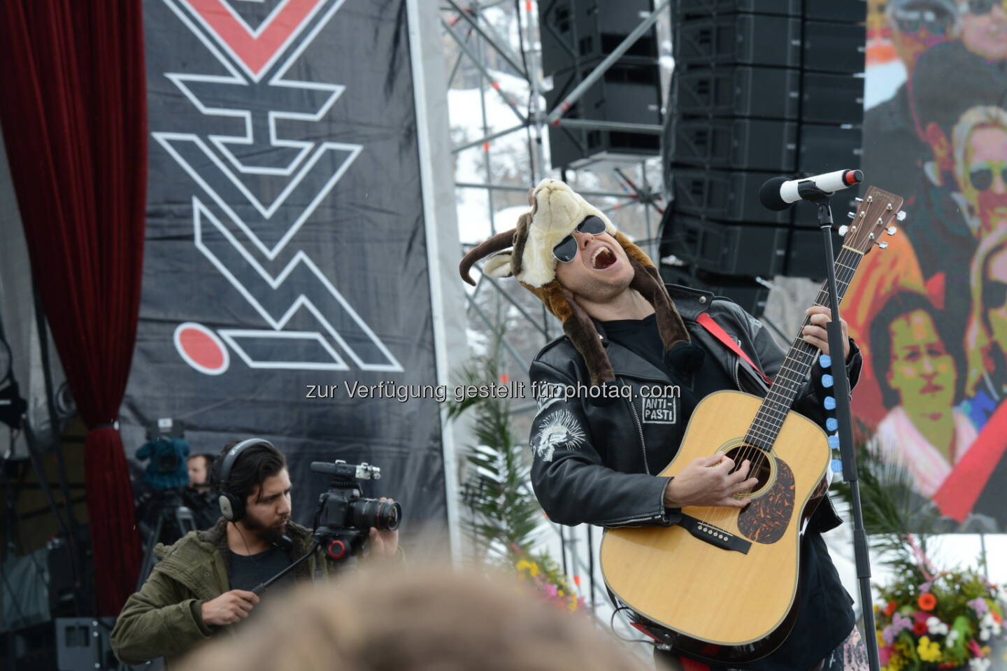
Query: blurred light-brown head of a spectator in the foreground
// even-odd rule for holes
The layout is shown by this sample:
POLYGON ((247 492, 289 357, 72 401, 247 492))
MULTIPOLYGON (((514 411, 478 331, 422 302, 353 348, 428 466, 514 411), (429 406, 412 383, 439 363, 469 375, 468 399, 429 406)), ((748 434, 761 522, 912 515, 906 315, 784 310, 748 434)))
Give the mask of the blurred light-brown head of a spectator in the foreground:
POLYGON ((359 572, 312 585, 239 635, 200 649, 191 671, 641 671, 586 617, 513 578, 446 568, 359 572))

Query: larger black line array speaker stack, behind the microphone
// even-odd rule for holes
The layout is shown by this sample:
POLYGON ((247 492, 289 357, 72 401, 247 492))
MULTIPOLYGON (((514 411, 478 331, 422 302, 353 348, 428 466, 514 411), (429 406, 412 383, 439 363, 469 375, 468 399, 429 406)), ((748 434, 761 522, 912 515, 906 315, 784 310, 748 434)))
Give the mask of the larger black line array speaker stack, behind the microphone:
POLYGON ((756 277, 824 277, 815 208, 769 212, 758 189, 860 166, 866 17, 864 0, 676 2, 662 135, 668 281, 757 315, 768 289, 756 277))

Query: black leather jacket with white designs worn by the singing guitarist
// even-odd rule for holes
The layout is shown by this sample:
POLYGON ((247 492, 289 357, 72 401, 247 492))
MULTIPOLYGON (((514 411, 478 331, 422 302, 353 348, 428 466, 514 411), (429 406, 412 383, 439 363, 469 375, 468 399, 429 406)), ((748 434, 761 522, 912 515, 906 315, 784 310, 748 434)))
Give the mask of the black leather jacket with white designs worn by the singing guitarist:
MULTIPOLYGON (((693 343, 715 358, 739 390, 764 396, 768 389, 762 378, 698 324, 696 318, 709 312, 772 379, 785 353, 762 324, 737 304, 712 293, 677 285, 668 285, 668 291, 693 343)), ((594 405, 583 395, 568 399, 539 398, 531 433, 535 494, 549 518, 561 524, 587 522, 608 527, 675 524, 678 511, 664 505, 665 487, 670 479, 655 474, 672 461, 679 444, 670 439, 669 424, 641 421, 643 401, 637 393, 644 385, 672 382, 644 359, 609 342, 600 324, 597 325, 617 384, 629 385, 633 393, 630 399, 618 398, 607 406, 594 405)), ((851 388, 859 377, 861 364, 860 352, 851 342, 847 362, 851 388)), ((821 367, 813 368, 813 378, 820 378, 821 367)), ((536 356, 530 377, 538 385, 590 385, 584 362, 566 337, 553 341, 536 356)), ((827 394, 820 384, 809 380, 794 409, 824 425, 826 418, 819 398, 824 395, 827 394)), ((828 502, 819 505, 809 529, 823 532, 841 523, 828 502)))

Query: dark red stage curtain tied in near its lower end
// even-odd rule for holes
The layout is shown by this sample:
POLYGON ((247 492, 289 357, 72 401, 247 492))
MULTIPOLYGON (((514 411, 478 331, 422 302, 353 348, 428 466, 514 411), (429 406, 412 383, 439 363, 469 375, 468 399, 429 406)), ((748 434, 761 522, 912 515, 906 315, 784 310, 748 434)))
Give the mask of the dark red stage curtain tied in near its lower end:
POLYGON ((140 564, 119 412, 147 188, 141 0, 0 2, 0 123, 32 272, 81 415, 101 615, 140 564))

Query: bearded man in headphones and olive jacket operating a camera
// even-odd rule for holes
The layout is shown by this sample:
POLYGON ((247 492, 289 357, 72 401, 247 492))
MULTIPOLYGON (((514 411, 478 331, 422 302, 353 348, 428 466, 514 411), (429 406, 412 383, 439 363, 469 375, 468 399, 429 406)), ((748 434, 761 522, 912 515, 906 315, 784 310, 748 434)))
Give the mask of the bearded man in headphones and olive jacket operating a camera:
MULTIPOLYGON (((207 531, 159 545, 140 591, 126 601, 112 632, 112 648, 127 664, 173 659, 229 631, 255 611, 252 591, 308 552, 312 532, 290 519, 286 458, 267 440, 234 441, 214 461, 223 517, 207 531), (218 466, 217 464, 220 464, 218 466)), ((398 531, 370 529, 370 557, 400 558, 398 531)), ((317 549, 276 586, 318 579, 339 566, 317 549)))

